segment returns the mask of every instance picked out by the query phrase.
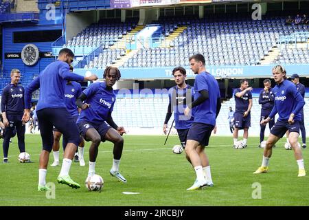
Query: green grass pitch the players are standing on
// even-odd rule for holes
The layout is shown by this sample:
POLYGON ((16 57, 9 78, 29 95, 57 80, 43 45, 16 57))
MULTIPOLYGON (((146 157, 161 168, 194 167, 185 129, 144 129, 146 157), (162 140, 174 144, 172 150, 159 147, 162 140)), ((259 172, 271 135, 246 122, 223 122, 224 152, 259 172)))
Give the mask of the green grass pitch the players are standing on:
MULTIPOLYGON (((86 166, 73 163, 70 176, 81 184, 76 190, 56 182, 60 166, 47 169, 47 182, 56 186, 55 199, 37 192, 38 155, 41 136, 26 135, 26 151, 31 164, 20 164, 17 139, 10 144, 9 164, 0 164, 0 206, 308 206, 309 176, 297 177, 293 151, 284 149, 285 139, 273 150, 269 173, 253 175, 262 162, 258 137, 249 137, 248 148, 234 149, 232 137, 211 137, 206 148, 215 186, 187 191, 196 177, 184 153, 175 155, 172 146, 177 136, 124 136, 120 172, 128 182, 121 183, 109 175, 113 159, 110 142, 100 144, 96 173, 104 179, 102 192, 89 192, 84 186, 88 172, 89 142, 85 148, 86 166), (260 184, 260 199, 253 199, 255 183, 260 184), (122 192, 140 192, 125 195, 122 192)), ((2 146, 3 140, 0 140, 2 146)), ((309 175, 309 149, 302 149, 309 175)), ((60 161, 62 160, 60 149, 60 161)), ((3 152, 0 153, 1 158, 3 152)), ((49 165, 53 157, 49 157, 49 165)))

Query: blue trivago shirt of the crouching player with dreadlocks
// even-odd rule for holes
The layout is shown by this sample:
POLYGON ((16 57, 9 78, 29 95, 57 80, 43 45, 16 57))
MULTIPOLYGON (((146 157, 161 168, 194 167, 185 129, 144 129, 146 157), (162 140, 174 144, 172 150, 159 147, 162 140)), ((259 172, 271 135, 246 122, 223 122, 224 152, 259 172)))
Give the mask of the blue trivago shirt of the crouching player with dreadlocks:
POLYGON ((102 124, 114 108, 116 95, 113 89, 106 89, 105 82, 92 83, 82 93, 87 96, 84 102, 90 104, 90 107, 80 112, 76 123, 87 121, 93 124, 102 124))

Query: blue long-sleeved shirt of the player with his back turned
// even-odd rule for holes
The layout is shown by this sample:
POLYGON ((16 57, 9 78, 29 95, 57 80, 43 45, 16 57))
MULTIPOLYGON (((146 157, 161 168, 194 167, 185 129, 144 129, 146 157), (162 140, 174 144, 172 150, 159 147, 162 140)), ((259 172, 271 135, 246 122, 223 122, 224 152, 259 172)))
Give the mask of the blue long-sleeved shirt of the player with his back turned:
POLYGON ((67 80, 84 80, 84 76, 73 74, 63 61, 49 64, 25 88, 25 108, 30 109, 32 92, 40 88, 36 111, 45 108, 65 108, 65 85, 67 80))

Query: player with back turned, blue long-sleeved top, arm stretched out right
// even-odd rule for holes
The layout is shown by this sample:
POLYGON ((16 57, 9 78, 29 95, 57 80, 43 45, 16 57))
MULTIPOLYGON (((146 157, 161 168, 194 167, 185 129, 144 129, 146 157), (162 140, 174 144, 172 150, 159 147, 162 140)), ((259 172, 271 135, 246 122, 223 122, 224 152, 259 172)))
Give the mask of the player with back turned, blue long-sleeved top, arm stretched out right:
POLYGON ((47 164, 49 153, 52 151, 54 142, 53 126, 55 126, 64 137, 68 144, 63 155, 62 167, 58 176, 58 183, 67 184, 72 188, 80 188, 80 185, 69 177, 69 170, 76 148, 80 144, 78 127, 73 116, 67 111, 65 106, 65 85, 67 80, 97 80, 98 77, 80 76, 69 71, 69 65, 73 62, 74 54, 68 48, 60 50, 58 61, 47 65, 47 67, 32 80, 30 85, 25 88, 25 113, 23 122, 30 118, 30 104, 32 92, 40 89, 40 96, 36 106, 38 124, 42 137, 43 150, 40 155, 40 165, 38 170, 38 191, 49 190, 45 186, 47 164))

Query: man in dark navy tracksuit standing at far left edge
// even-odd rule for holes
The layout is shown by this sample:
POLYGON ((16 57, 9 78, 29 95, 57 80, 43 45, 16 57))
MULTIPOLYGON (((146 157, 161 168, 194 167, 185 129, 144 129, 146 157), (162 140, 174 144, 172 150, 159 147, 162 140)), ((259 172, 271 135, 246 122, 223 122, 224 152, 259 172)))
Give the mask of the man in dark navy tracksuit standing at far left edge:
POLYGON ((25 152, 25 124, 22 122, 23 109, 25 108, 23 86, 18 85, 21 79, 19 69, 12 69, 11 83, 3 88, 1 95, 1 111, 5 126, 3 135, 3 163, 8 163, 8 149, 10 138, 16 128, 19 151, 25 152))

